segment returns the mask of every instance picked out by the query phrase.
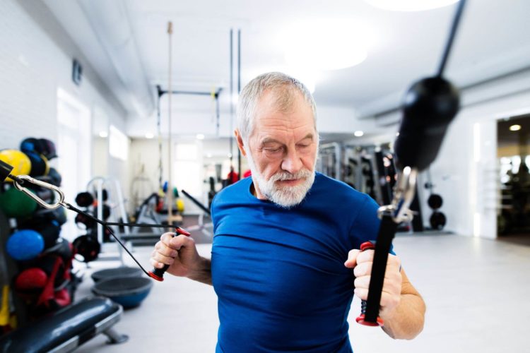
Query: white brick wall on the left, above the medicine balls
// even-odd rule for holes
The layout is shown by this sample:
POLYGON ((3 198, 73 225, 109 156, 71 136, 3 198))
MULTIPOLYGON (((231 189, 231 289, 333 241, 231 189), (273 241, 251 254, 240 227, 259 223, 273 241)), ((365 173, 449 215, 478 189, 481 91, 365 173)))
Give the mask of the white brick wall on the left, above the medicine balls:
MULTIPOLYGON (((0 18, 0 148, 19 148, 28 136, 57 142, 58 88, 124 131, 123 107, 41 1, 0 1, 0 18), (79 86, 71 80, 73 58, 83 66, 79 86)), ((123 178, 122 169, 107 172, 123 178)))

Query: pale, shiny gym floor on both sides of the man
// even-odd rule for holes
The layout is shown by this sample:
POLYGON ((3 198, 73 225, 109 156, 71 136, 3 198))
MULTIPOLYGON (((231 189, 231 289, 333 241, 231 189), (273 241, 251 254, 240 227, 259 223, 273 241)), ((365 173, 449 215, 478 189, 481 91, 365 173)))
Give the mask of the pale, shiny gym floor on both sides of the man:
MULTIPOLYGON (((399 234, 394 246, 413 285, 428 306, 425 328, 415 340, 394 341, 379 328, 355 323, 360 301, 350 312, 350 338, 355 352, 459 353, 525 352, 530 318, 530 246, 452 234, 399 234)), ((211 244, 199 244, 209 256, 211 244)), ((134 248, 150 268, 152 248, 134 248)), ((126 265, 134 265, 124 258, 126 265)), ((90 295, 90 273, 118 261, 95 261, 85 273, 77 299, 90 295)), ((213 352, 216 345, 217 300, 212 287, 166 275, 141 306, 124 311, 114 326, 129 335, 122 345, 106 345, 95 337, 76 352, 213 352)), ((527 351, 526 351, 527 352, 527 351)))

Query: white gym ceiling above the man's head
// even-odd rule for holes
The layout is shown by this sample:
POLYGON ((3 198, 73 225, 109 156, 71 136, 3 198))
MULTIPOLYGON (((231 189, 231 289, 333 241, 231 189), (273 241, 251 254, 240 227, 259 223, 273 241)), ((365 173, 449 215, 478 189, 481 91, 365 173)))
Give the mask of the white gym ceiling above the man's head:
MULTIPOLYGON (((285 50, 293 45, 285 39, 293 25, 309 35, 314 30, 325 32, 333 23, 348 23, 346 30, 337 29, 351 31, 341 45, 355 46, 355 40, 364 40, 367 59, 351 68, 314 71, 314 97, 317 104, 352 107, 360 116, 372 116, 396 107, 413 80, 435 73, 456 8, 394 12, 362 0, 45 0, 45 4, 124 107, 136 115, 152 112, 155 86, 166 89, 169 84, 168 21, 173 25, 172 88, 206 92, 223 88, 227 101, 231 28, 241 30, 244 85, 266 71, 298 74, 285 62, 285 50)), ((530 66, 529 18, 527 0, 469 0, 446 76, 462 87, 530 66)), ((329 40, 338 37, 329 35, 329 40)), ((237 61, 236 50, 234 54, 237 61)), ((236 73, 237 69, 235 90, 236 73)))

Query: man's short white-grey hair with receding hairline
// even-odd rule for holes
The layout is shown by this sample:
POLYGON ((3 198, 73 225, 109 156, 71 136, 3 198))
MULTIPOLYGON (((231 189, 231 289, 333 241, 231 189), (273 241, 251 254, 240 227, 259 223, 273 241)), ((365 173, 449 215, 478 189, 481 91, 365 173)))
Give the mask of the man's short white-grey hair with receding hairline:
POLYGON ((317 105, 307 87, 296 78, 285 73, 264 73, 245 85, 237 102, 237 128, 245 143, 248 143, 248 139, 254 131, 256 106, 267 91, 273 92, 276 106, 283 112, 293 106, 295 92, 300 92, 312 109, 314 128, 317 128, 317 105))

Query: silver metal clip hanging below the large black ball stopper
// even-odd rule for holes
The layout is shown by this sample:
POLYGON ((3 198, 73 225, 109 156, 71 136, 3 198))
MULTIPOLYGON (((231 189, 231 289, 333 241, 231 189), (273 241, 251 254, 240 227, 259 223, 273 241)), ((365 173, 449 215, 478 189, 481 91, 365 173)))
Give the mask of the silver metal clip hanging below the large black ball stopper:
POLYGON ((391 215, 396 223, 411 222, 413 214, 408 207, 411 205, 416 193, 417 177, 418 169, 404 167, 403 172, 398 174, 392 203, 384 205, 377 210, 379 217, 387 214, 391 215))

